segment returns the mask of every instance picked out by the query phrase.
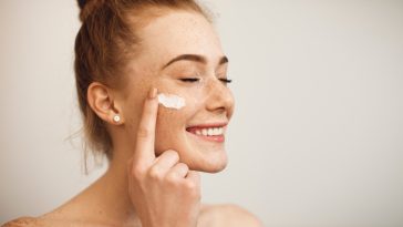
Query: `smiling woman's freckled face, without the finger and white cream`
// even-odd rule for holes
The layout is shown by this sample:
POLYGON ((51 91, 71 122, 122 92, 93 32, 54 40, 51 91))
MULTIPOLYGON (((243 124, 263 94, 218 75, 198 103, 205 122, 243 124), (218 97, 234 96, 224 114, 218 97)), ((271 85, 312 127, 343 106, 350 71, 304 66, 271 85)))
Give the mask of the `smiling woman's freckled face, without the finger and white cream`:
POLYGON ((175 110, 159 105, 156 155, 174 149, 190 169, 224 169, 224 137, 197 135, 215 127, 223 128, 225 135, 234 112, 234 97, 224 81, 227 59, 211 24, 199 13, 169 11, 137 29, 137 34, 140 52, 130 63, 123 105, 127 136, 135 138, 151 87, 176 94, 185 99, 186 106, 175 110))

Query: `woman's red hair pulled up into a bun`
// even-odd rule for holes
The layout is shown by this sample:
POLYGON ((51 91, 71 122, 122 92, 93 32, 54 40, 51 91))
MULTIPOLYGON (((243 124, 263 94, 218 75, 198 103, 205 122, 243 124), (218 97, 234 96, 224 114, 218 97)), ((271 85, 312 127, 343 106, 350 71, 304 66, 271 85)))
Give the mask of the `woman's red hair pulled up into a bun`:
POLYGON ((112 140, 103 122, 86 100, 92 82, 122 87, 126 65, 136 52, 136 24, 146 22, 156 13, 153 9, 207 12, 194 0, 78 0, 82 25, 75 39, 75 81, 83 118, 85 154, 106 154, 112 158, 112 140), (145 13, 147 12, 147 13, 145 13))

